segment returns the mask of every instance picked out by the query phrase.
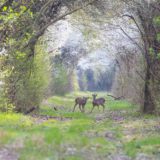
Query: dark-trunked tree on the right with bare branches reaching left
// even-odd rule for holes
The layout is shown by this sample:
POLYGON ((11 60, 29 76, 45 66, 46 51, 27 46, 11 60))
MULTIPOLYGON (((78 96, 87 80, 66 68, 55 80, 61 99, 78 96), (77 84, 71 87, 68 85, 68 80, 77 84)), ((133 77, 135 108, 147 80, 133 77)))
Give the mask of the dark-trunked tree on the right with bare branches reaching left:
POLYGON ((125 34, 141 50, 145 59, 146 73, 144 86, 144 113, 153 113, 159 102, 160 78, 160 32, 159 15, 160 2, 155 1, 125 1, 131 14, 124 16, 130 18, 137 26, 141 36, 142 45, 135 43, 134 39, 125 34))

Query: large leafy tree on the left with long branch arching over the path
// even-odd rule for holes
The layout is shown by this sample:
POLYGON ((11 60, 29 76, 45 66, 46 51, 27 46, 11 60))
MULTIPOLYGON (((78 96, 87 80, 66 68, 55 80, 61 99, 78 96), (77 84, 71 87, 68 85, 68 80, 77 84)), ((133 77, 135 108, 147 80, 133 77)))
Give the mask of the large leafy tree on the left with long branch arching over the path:
MULTIPOLYGON (((47 0, 0 2, 0 48, 4 48, 3 57, 6 103, 13 104, 18 112, 39 106, 39 90, 36 84, 35 59, 39 38, 51 24, 94 1, 47 0), (62 11, 63 8, 63 11, 62 11), (65 9, 64 9, 65 8, 65 9), (37 93, 30 94, 32 91, 37 93), (19 95, 23 98, 19 99, 19 95), (23 103, 25 99, 26 103, 23 103)), ((36 79, 37 78, 37 79, 36 79)))

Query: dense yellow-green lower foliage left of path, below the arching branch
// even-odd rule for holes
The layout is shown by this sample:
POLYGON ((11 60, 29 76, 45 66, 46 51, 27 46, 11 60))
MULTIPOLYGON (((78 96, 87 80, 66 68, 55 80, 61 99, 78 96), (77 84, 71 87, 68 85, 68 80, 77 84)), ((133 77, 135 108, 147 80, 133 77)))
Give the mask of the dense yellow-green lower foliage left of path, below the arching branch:
POLYGON ((8 101, 1 105, 13 105, 18 112, 39 106, 50 81, 49 58, 40 45, 35 52, 30 61, 27 52, 19 51, 6 59, 8 65, 3 69, 5 95, 1 99, 8 101))

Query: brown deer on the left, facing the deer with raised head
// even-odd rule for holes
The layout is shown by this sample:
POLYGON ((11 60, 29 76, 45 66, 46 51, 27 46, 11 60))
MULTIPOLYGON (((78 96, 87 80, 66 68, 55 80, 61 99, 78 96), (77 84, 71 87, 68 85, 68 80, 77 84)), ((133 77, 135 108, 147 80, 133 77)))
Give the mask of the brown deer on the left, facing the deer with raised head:
POLYGON ((87 100, 89 99, 89 97, 78 97, 75 99, 75 105, 74 105, 74 108, 73 108, 73 112, 75 111, 75 108, 77 105, 79 105, 79 109, 81 112, 84 112, 84 107, 87 103, 87 100), (82 107, 82 108, 81 108, 82 107))

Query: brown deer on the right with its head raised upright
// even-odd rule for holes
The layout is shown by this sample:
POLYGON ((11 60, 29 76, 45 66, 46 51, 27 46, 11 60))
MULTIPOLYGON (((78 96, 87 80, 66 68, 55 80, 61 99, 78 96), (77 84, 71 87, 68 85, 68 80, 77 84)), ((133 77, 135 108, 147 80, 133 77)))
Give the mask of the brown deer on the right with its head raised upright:
POLYGON ((91 110, 91 113, 92 113, 93 109, 95 108, 95 106, 97 106, 98 109, 99 109, 99 106, 102 106, 103 112, 104 112, 104 108, 105 108, 104 104, 105 104, 106 100, 104 98, 96 98, 97 94, 93 94, 92 97, 93 97, 93 101, 92 101, 93 108, 91 110))

